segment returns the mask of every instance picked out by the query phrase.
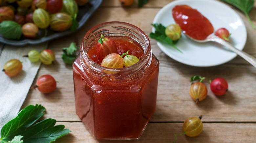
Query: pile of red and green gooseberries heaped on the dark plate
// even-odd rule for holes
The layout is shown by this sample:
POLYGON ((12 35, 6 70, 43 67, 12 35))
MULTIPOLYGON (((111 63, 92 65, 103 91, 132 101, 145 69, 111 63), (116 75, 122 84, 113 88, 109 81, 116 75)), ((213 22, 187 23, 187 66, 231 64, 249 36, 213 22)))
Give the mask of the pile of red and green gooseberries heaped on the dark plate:
POLYGON ((24 37, 33 39, 37 37, 39 29, 46 31, 50 27, 57 32, 70 29, 76 19, 78 6, 87 2, 88 0, 2 0, 0 23, 14 21, 22 26, 24 37))

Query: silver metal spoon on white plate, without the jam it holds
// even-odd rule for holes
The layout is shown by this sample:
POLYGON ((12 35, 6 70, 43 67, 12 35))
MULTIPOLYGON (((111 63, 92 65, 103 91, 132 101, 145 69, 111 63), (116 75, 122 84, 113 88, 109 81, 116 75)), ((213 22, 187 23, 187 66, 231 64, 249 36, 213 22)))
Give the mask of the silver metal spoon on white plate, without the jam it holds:
POLYGON ((256 68, 256 58, 254 56, 251 56, 251 55, 245 53, 244 51, 238 50, 233 45, 231 45, 229 42, 214 35, 214 33, 210 34, 205 40, 196 40, 196 39, 190 37, 189 35, 187 35, 186 33, 184 33, 184 34, 191 40, 194 40, 194 41, 197 41, 200 43, 204 43, 204 42, 208 42, 208 41, 214 41, 214 42, 220 43, 223 46, 227 47, 229 50, 235 52, 237 55, 244 58, 246 61, 248 61, 250 64, 252 64, 256 68))

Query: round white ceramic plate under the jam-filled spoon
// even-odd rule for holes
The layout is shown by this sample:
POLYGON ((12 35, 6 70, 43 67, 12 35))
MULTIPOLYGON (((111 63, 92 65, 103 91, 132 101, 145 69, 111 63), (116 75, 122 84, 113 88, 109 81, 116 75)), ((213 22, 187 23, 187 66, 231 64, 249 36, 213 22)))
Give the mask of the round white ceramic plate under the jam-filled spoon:
MULTIPOLYGON (((226 28, 231 33, 229 42, 239 50, 244 48, 247 33, 243 20, 233 9, 216 0, 173 1, 157 13, 153 23, 161 23, 164 26, 175 24, 172 17, 172 9, 176 5, 188 5, 193 9, 197 9, 212 23, 214 30, 226 28)), ((155 28, 152 30, 154 32, 155 28)), ((157 42, 157 44, 166 55, 174 60, 197 67, 220 65, 237 56, 237 54, 225 49, 218 43, 198 43, 190 40, 184 34, 176 44, 183 53, 164 42, 157 42)))

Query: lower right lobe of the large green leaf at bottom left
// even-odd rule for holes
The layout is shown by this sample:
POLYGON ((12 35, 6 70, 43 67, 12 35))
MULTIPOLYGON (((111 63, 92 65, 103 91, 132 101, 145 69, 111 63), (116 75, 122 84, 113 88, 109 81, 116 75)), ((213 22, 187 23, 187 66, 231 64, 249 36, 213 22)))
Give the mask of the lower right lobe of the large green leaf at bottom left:
POLYGON ((21 135, 24 143, 51 143, 71 131, 64 129, 64 125, 56 125, 55 119, 45 119, 23 132, 21 135))

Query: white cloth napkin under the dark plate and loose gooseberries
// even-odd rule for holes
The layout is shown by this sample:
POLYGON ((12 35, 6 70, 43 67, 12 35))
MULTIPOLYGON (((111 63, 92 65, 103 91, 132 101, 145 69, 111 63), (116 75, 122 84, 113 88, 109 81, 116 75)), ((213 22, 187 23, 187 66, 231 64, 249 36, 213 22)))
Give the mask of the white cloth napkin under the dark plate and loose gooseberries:
POLYGON ((3 44, 0 46, 0 130, 19 112, 41 65, 40 61, 32 63, 28 57, 22 56, 31 50, 40 52, 47 45, 48 42, 23 47, 3 44), (2 71, 4 64, 11 59, 19 59, 22 62, 21 73, 14 77, 9 77, 2 71))

